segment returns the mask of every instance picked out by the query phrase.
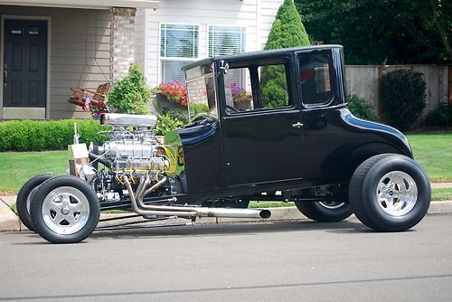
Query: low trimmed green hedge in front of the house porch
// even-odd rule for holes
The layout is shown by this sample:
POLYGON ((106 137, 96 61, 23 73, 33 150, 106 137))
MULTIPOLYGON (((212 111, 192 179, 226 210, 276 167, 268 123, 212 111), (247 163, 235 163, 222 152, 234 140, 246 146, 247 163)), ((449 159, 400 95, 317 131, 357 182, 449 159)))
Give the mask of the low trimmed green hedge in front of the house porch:
POLYGON ((0 122, 0 151, 64 149, 73 143, 74 122, 77 123, 80 143, 105 141, 106 137, 99 137, 98 132, 109 127, 101 127, 95 120, 11 120, 0 122))

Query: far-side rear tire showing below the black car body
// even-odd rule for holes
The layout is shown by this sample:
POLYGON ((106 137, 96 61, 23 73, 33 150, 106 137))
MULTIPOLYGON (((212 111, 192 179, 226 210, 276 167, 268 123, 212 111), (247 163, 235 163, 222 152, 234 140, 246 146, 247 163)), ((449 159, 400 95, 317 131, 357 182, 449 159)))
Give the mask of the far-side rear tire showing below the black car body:
POLYGON ((353 214, 349 203, 296 202, 298 211, 316 222, 342 222, 353 214))

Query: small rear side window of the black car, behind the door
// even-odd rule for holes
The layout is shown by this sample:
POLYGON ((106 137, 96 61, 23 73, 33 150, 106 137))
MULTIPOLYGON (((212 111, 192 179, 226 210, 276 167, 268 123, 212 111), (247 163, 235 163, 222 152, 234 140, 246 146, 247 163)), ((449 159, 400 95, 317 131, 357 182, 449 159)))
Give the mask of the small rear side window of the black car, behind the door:
POLYGON ((329 104, 334 99, 331 53, 302 53, 298 61, 301 95, 305 106, 329 104))

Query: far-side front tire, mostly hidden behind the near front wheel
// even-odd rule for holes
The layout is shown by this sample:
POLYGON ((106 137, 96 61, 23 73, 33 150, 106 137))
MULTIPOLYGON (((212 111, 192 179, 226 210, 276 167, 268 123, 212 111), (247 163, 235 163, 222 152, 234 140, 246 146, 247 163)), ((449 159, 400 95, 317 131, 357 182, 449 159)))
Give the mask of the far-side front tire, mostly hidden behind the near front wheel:
POLYGON ((17 207, 17 215, 22 223, 30 231, 34 231, 32 216, 30 216, 30 203, 33 200, 33 193, 36 192, 38 187, 46 180, 55 177, 52 174, 36 175, 25 182, 22 188, 17 194, 17 201, 15 203, 17 207))

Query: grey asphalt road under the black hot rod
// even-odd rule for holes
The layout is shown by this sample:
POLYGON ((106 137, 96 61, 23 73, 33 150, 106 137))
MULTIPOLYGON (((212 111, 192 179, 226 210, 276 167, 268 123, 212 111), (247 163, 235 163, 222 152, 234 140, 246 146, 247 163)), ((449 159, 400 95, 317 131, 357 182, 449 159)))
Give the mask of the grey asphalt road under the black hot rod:
POLYGON ((452 301, 452 215, 377 233, 356 220, 0 233, 0 301, 452 301))

